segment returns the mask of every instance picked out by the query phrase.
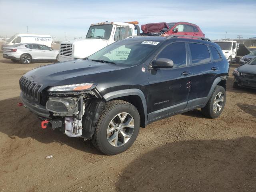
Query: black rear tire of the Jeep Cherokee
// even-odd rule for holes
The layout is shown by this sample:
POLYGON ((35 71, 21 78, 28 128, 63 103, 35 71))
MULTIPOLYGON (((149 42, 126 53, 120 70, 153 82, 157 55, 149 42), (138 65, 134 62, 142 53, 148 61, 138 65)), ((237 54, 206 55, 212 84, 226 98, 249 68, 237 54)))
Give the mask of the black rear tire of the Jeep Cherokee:
POLYGON ((204 114, 204 116, 209 117, 209 118, 217 118, 222 113, 225 104, 226 104, 226 91, 225 91, 224 87, 217 85, 214 88, 212 95, 210 96, 210 99, 208 100, 206 106, 204 108, 202 108, 201 110, 202 110, 202 113, 204 114), (224 98, 224 100, 222 102, 222 107, 218 112, 214 112, 214 100, 215 100, 217 94, 220 92, 223 94, 223 98, 224 98))

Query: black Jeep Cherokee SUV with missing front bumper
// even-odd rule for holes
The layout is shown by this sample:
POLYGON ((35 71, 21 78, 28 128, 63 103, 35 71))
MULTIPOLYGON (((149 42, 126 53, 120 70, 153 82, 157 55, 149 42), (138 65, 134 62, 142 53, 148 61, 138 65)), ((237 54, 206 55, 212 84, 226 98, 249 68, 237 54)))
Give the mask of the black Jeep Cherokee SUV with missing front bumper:
POLYGON ((207 38, 137 36, 88 58, 27 72, 20 99, 42 128, 91 139, 112 155, 127 150, 139 128, 156 120, 196 108, 218 117, 227 77, 228 61, 207 38))

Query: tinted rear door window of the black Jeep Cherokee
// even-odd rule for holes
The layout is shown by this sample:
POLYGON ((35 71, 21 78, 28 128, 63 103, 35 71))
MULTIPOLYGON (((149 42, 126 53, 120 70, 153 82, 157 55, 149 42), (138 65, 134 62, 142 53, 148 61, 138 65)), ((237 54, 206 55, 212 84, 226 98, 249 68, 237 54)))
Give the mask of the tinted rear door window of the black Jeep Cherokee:
POLYGON ((192 65, 210 62, 210 52, 204 44, 189 43, 192 65))

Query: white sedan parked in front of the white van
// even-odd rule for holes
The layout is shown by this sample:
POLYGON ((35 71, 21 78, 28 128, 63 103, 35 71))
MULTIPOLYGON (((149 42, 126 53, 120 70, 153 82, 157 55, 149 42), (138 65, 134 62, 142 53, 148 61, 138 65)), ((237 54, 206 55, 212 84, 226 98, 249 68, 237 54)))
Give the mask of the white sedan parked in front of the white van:
POLYGON ((33 61, 57 61, 59 51, 42 44, 16 44, 4 47, 3 57, 13 62, 29 64, 33 61))

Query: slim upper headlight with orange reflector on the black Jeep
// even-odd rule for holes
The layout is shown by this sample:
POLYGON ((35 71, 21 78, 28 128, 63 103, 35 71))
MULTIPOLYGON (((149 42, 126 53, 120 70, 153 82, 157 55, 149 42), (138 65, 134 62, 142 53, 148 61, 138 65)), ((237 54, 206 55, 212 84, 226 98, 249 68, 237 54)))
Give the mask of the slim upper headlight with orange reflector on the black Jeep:
POLYGON ((80 83, 80 84, 72 84, 72 85, 60 85, 54 86, 48 89, 48 91, 53 92, 66 92, 66 91, 81 91, 88 90, 93 86, 93 83, 80 83))

